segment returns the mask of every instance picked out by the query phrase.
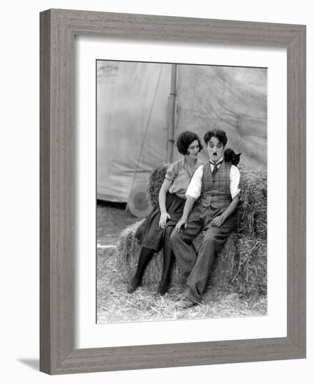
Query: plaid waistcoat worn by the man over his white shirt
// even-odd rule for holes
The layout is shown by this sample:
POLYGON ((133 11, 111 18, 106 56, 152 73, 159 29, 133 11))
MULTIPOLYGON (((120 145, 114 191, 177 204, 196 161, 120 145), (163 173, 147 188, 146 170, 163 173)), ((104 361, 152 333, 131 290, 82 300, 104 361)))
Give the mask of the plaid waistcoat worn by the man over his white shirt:
POLYGON ((203 207, 220 208, 230 205, 230 163, 220 165, 214 179, 211 175, 211 166, 207 162, 203 166, 202 192, 200 203, 203 207))

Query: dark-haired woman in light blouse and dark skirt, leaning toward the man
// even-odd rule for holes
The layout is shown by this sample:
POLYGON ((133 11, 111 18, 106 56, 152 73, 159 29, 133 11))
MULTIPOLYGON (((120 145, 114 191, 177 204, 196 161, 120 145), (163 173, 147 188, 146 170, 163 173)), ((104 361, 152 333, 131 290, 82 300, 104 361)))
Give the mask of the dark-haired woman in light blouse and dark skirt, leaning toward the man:
POLYGON ((197 155, 203 147, 200 138, 195 133, 190 131, 181 133, 177 139, 177 148, 184 157, 168 168, 159 192, 159 204, 156 204, 135 233, 135 237, 142 245, 142 250, 135 275, 126 288, 128 293, 133 293, 142 284, 145 268, 154 253, 160 251, 162 247, 163 272, 157 292, 160 295, 165 295, 167 292, 174 261, 174 254, 170 248, 170 235, 183 214, 186 202, 185 193, 190 179, 195 170, 203 164, 202 161, 197 160, 197 155))

